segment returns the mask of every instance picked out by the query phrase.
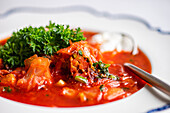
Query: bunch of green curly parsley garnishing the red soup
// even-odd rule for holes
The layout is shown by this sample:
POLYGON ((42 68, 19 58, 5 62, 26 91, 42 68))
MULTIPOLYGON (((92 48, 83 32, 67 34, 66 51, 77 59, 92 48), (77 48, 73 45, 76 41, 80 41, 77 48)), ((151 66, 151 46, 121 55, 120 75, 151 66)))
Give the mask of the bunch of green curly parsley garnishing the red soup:
POLYGON ((24 66, 24 60, 34 54, 52 55, 70 45, 69 40, 85 40, 80 28, 49 23, 46 27, 25 27, 13 32, 7 43, 0 47, 0 58, 9 67, 24 66), (47 30, 48 29, 48 30, 47 30))

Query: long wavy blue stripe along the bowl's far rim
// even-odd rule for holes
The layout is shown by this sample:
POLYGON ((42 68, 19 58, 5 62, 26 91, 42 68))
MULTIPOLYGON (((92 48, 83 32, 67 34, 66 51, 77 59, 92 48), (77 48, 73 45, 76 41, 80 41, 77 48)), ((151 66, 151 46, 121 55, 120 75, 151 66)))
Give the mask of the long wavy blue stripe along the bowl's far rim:
POLYGON ((1 18, 6 18, 9 15, 12 15, 14 13, 67 13, 67 12, 87 12, 97 17, 105 17, 109 19, 128 19, 128 20, 134 20, 140 23, 143 23, 148 29, 157 31, 161 34, 170 35, 170 31, 163 31, 160 28, 156 28, 151 26, 146 20, 134 16, 134 15, 128 15, 128 14, 111 14, 108 12, 101 12, 97 11, 96 9, 84 6, 84 5, 72 5, 72 6, 65 6, 65 7, 55 7, 55 8, 40 8, 40 7, 16 7, 12 8, 5 13, 0 14, 1 18))

